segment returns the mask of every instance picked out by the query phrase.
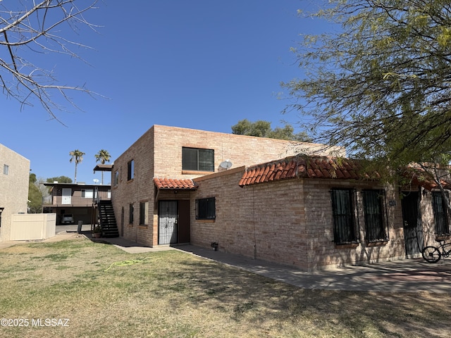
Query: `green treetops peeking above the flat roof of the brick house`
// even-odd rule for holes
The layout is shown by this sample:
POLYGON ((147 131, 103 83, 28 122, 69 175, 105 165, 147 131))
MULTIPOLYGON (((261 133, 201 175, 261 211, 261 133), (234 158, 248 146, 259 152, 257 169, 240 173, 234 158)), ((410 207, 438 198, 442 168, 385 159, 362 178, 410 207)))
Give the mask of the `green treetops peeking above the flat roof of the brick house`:
POLYGON ((283 128, 271 128, 271 122, 264 120, 257 120, 250 122, 246 118, 238 121, 236 125, 232 126, 232 134, 240 134, 247 136, 268 137, 270 139, 287 139, 297 142, 311 142, 311 139, 305 132, 294 133, 295 128, 292 125, 285 124, 283 128))

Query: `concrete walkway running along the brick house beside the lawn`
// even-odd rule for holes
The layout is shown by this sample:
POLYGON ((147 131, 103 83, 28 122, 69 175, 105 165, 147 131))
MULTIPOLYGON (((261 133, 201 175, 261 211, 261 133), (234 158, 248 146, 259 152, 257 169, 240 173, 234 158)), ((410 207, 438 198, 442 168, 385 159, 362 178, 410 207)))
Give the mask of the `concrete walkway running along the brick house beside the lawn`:
MULTIPOLYGON (((54 242, 84 236, 89 232, 61 232, 42 242, 54 242)), ((422 258, 349 266, 333 270, 307 273, 285 265, 268 263, 243 256, 200 248, 199 246, 159 246, 149 248, 121 237, 92 239, 94 242, 113 244, 128 253, 144 253, 162 250, 180 250, 205 259, 234 266, 274 280, 304 289, 329 289, 364 292, 430 292, 451 294, 451 258, 439 263, 426 263, 422 258)), ((0 249, 22 242, 0 242, 0 249)))

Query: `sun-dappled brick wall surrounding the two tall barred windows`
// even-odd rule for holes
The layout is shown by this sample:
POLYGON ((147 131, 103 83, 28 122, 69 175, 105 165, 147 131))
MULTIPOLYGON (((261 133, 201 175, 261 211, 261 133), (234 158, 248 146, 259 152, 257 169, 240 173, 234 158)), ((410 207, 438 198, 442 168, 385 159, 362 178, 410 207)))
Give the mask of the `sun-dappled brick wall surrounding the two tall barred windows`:
POLYGON ((402 209, 399 196, 393 189, 356 180, 304 180, 304 206, 308 238, 308 270, 404 258, 402 209), (360 230, 358 245, 335 245, 330 199, 332 188, 357 189, 357 217, 360 230), (365 240, 362 189, 385 189, 386 200, 397 201, 396 206, 388 204, 386 206, 385 219, 388 220, 390 238, 388 242, 367 243, 365 240))

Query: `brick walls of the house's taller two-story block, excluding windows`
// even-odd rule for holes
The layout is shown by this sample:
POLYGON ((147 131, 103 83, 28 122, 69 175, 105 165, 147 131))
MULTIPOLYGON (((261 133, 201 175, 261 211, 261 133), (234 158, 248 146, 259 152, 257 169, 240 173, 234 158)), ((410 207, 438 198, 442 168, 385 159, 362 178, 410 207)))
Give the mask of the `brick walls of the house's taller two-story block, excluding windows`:
MULTIPOLYGON (((156 194, 152 182, 154 177, 180 179, 211 174, 183 171, 183 146, 214 149, 215 173, 224 171, 220 164, 226 160, 233 163, 232 168, 238 168, 242 165, 254 165, 290 156, 302 149, 305 151, 305 149, 318 150, 321 148, 319 144, 297 144, 295 146, 292 142, 278 139, 154 125, 114 161, 111 171, 111 200, 116 218, 118 218, 120 233, 126 239, 149 246, 158 244, 158 204, 154 203, 156 194), (133 180, 127 180, 128 162, 131 160, 135 163, 135 177, 133 180), (116 172, 118 172, 118 184, 115 186, 116 172), (147 227, 137 224, 139 223, 141 201, 149 201, 149 208, 151 208, 149 215, 151 215, 153 223, 147 227), (132 224, 128 222, 130 204, 134 206, 135 210, 132 224)), ((336 150, 328 149, 326 153, 336 150)))

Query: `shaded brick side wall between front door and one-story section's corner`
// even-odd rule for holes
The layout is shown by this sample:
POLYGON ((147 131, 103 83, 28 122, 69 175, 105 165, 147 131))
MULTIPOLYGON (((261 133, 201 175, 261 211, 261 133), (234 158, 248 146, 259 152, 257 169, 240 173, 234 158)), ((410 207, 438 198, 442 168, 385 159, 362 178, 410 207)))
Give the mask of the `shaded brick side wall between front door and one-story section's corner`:
POLYGON ((191 242, 266 261, 303 268, 306 237, 302 185, 299 180, 255 184, 241 188, 244 168, 202 177, 195 199, 216 198, 214 222, 191 219, 191 242))

